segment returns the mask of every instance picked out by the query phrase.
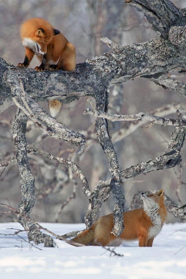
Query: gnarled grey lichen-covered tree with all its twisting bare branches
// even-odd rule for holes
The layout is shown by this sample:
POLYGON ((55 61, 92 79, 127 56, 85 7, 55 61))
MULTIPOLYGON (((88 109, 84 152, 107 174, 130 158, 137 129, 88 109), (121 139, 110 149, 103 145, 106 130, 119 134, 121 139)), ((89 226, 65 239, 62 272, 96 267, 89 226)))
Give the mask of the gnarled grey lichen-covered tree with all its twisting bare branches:
MULTIPOLYGON (((101 18, 104 17, 103 10, 99 6, 101 5, 100 3, 102 4, 104 1, 98 4, 92 1, 89 3, 90 5, 96 5, 101 14, 98 31, 102 23, 101 18)), ((151 80, 165 89, 173 90, 181 96, 186 96, 185 84, 166 75, 169 72, 185 72, 186 70, 185 10, 177 8, 168 0, 127 0, 126 3, 142 12, 152 25, 152 28, 161 35, 145 43, 131 44, 124 47, 110 39, 103 38, 102 41, 111 50, 103 55, 86 60, 85 63, 77 64, 76 72, 74 73, 60 71, 51 73, 46 71, 36 74, 34 70, 19 69, 7 64, 2 58, 0 59, 0 109, 4 111, 13 104, 18 107, 13 125, 13 142, 16 157, 12 156, 12 158, 3 162, 1 166, 7 167, 15 159, 17 160, 22 192, 22 201, 18 207, 18 218, 20 224, 27 230, 29 240, 34 240, 36 243, 44 243, 45 246, 53 245, 50 236, 38 232, 35 224, 31 220, 28 221, 35 203, 35 178, 31 173, 28 154, 41 156, 41 161, 46 159, 54 160, 72 169, 67 179, 70 179, 72 184, 76 185, 74 181, 74 175, 76 175, 82 183, 85 197, 89 200, 88 210, 85 215, 87 227, 90 227, 97 220, 102 203, 112 193, 114 196, 114 228, 112 233, 116 236, 119 236, 123 231, 122 214, 125 198, 121 190, 121 184, 139 174, 172 168, 181 162, 181 148, 186 133, 186 106, 184 104, 164 105, 156 110, 154 109, 151 113, 143 112, 132 115, 112 115, 108 113, 108 107, 110 104, 109 88, 115 84, 134 80, 137 77, 151 80), (89 189, 88 179, 86 179, 81 168, 73 162, 72 158, 71 160, 66 160, 35 146, 27 146, 26 126, 27 117, 30 117, 35 124, 45 131, 42 138, 48 134, 56 140, 66 142, 71 149, 76 149, 77 154, 74 156, 80 156, 79 154, 83 154, 86 148, 91 148, 93 142, 96 141, 93 129, 75 132, 52 118, 36 103, 38 101, 58 99, 65 104, 71 103, 80 97, 85 97, 91 105, 91 108, 86 109, 84 113, 96 117, 97 137, 110 171, 110 178, 98 181, 93 191, 89 189), (165 118, 165 115, 176 110, 178 119, 165 118), (159 113, 159 116, 156 116, 156 113, 159 113), (132 122, 122 129, 120 127, 111 136, 109 119, 111 121, 125 120, 132 122), (151 122, 147 126, 148 128, 155 123, 163 127, 166 125, 176 126, 167 142, 167 147, 157 158, 149 159, 141 164, 121 170, 113 142, 126 137, 142 124, 147 125, 145 124, 147 121, 151 122)), ((95 40, 97 40, 97 35, 95 40)), ((99 47, 95 49, 95 53, 98 52, 99 47)), ((117 96, 121 99, 121 92, 117 96)), ((8 125, 6 122, 2 124, 8 125)), ((48 163, 49 166, 50 164, 48 163)), ((63 179, 65 180, 64 177, 63 179)), ((46 195, 47 192, 53 191, 57 185, 54 183, 52 187, 52 190, 51 187, 46 187, 46 195)), ((58 187, 61 186, 58 185, 58 187)), ((41 192, 40 195, 43 195, 43 193, 41 192)))

